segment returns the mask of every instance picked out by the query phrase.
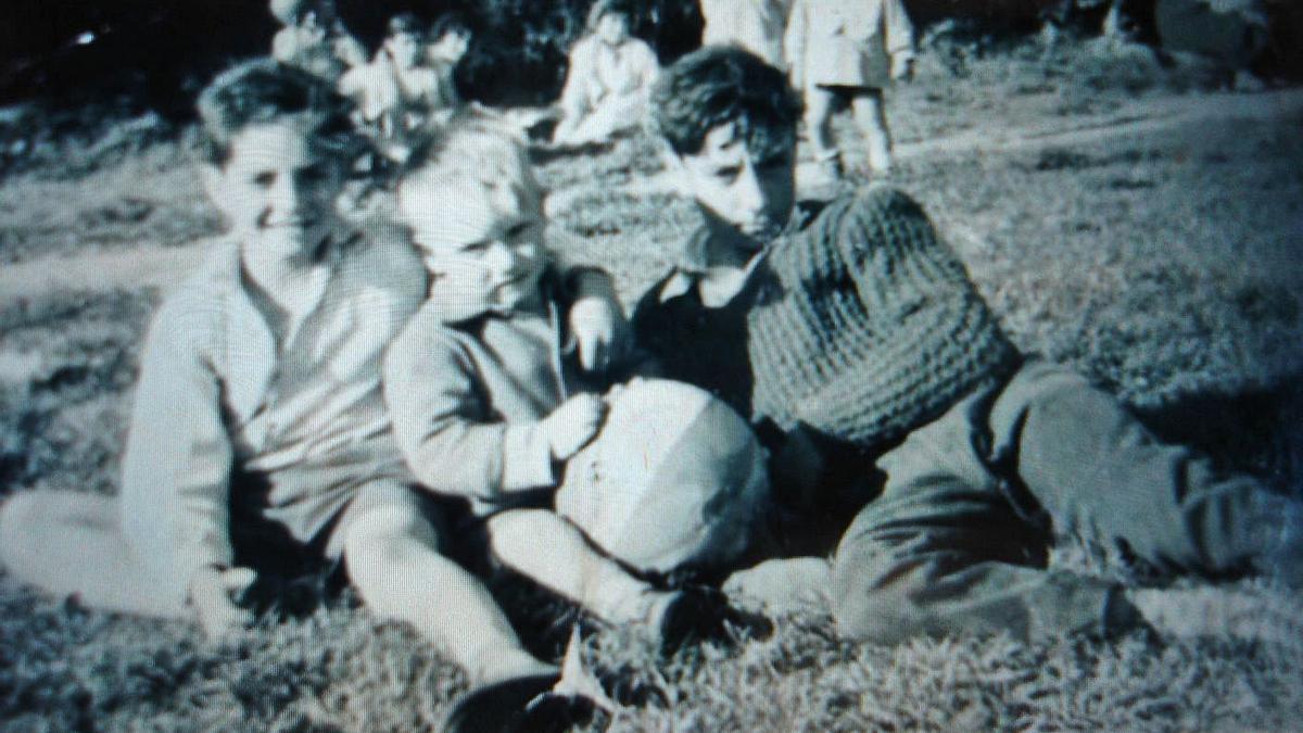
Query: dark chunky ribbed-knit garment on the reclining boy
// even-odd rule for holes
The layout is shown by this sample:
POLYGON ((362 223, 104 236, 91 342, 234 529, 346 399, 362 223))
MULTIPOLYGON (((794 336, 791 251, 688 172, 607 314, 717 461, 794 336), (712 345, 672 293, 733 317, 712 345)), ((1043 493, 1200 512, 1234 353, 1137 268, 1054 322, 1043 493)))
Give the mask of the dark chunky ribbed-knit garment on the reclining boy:
POLYGON ((1010 374, 1005 338, 923 209, 885 187, 777 243, 748 317, 753 410, 877 446, 1010 374))

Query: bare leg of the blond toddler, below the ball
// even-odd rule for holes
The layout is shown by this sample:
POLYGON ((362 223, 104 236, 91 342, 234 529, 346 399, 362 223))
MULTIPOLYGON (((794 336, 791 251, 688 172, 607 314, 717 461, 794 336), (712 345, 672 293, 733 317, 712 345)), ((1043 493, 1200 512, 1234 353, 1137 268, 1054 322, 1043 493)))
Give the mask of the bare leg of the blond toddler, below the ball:
POLYGON ((489 537, 500 562, 611 623, 659 622, 674 597, 629 575, 547 510, 504 511, 489 520, 489 537))

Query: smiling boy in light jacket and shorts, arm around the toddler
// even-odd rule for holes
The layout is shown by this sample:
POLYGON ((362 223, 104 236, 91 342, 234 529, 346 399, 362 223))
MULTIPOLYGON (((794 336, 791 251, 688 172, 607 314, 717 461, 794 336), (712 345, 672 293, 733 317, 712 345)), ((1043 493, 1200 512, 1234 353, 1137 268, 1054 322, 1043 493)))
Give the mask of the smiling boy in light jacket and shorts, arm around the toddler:
MULTIPOLYGON (((253 620, 255 580, 343 563, 373 613, 410 623, 473 682, 552 674, 440 554, 440 510, 394 440, 382 355, 427 282, 401 228, 360 232, 336 214, 365 146, 351 104, 253 61, 198 108, 203 181, 229 231, 152 320, 121 494, 9 498, 4 566, 91 608, 195 618, 219 636, 253 620)), ((572 330, 593 364, 618 305, 582 303, 572 330)))

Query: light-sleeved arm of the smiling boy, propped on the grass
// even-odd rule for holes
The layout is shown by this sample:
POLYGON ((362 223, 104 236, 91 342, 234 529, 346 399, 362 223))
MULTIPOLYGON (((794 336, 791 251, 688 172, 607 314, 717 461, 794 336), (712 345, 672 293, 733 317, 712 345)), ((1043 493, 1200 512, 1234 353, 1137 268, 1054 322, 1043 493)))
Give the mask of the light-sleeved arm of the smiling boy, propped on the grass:
POLYGON ((201 307, 173 303, 155 317, 122 458, 124 531, 138 550, 169 558, 182 588, 232 562, 233 451, 220 382, 198 343, 212 333, 201 307))

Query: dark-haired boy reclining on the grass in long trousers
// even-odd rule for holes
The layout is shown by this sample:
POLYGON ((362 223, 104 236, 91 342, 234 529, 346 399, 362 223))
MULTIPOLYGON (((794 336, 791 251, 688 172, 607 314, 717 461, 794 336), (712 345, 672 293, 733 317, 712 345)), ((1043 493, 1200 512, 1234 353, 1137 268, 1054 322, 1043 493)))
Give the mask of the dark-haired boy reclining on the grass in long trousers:
MULTIPOLYGON (((908 196, 794 205, 801 107, 782 72, 704 48, 665 72, 652 107, 705 226, 638 303, 637 340, 667 377, 752 416, 786 505, 775 552, 835 544, 843 634, 1113 633, 1161 603, 1049 570, 1063 535, 1179 573, 1303 583, 1296 502, 1019 353, 908 196)), ((735 582, 780 595, 822 582, 812 566, 813 582, 780 563, 735 582)))

